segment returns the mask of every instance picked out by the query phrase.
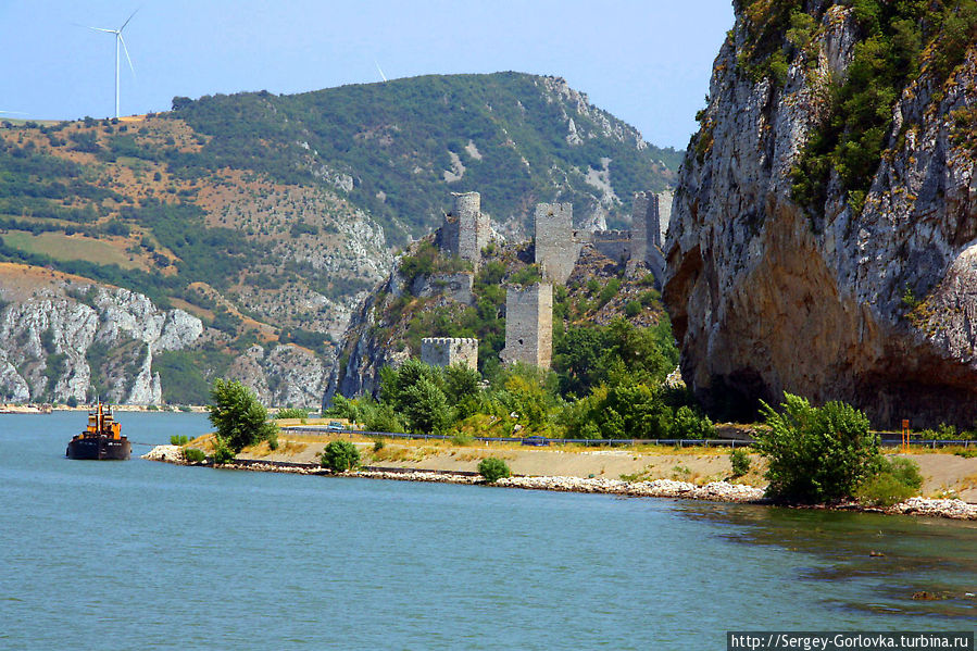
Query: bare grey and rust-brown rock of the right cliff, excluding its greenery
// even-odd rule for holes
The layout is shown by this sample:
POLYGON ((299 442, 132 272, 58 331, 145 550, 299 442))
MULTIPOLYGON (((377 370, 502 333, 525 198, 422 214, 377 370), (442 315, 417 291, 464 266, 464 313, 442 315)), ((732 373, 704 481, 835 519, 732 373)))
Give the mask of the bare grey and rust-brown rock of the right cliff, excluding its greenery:
POLYGON ((977 164, 954 121, 977 107, 977 48, 942 88, 926 77, 906 87, 864 210, 835 174, 812 217, 792 200, 791 168, 860 36, 851 9, 810 4, 819 29, 782 86, 738 68, 742 16, 716 59, 666 242, 682 376, 726 415, 787 390, 853 402, 876 426, 970 426, 977 164))

